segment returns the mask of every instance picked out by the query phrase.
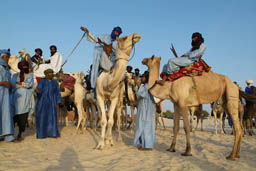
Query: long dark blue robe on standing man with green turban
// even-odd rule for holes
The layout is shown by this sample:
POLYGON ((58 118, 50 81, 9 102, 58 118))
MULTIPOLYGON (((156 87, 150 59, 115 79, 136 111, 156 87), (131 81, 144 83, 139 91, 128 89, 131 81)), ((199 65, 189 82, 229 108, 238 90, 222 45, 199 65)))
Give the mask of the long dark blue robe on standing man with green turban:
POLYGON ((61 103, 58 83, 43 78, 37 86, 38 100, 36 109, 37 138, 59 137, 56 105, 61 103))

